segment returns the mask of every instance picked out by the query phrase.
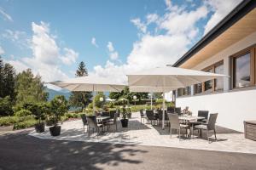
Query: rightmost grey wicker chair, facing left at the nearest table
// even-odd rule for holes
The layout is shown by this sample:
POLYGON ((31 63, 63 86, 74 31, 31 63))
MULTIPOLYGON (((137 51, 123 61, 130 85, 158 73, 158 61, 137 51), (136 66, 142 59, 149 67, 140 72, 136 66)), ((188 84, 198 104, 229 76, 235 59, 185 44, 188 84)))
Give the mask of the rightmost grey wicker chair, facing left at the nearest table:
POLYGON ((202 130, 206 130, 207 131, 208 143, 210 143, 209 131, 211 131, 211 130, 213 130, 214 136, 215 136, 215 140, 217 140, 217 138, 216 138, 216 130, 215 130, 215 123, 216 123, 216 120, 217 120, 217 116, 218 116, 218 113, 210 114, 210 117, 209 117, 209 120, 208 120, 207 123, 202 123, 200 125, 196 125, 195 126, 195 129, 199 129, 200 131, 202 131, 202 130))

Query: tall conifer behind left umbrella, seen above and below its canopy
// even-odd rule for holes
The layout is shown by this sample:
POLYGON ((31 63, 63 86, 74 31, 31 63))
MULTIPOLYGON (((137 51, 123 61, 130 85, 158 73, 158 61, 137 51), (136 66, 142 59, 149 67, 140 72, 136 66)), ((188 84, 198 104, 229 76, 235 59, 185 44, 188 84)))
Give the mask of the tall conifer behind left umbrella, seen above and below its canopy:
MULTIPOLYGON (((88 72, 84 62, 80 62, 78 70, 75 74, 76 77, 87 77, 88 72)), ((79 107, 83 111, 83 109, 90 104, 92 98, 91 92, 73 92, 69 97, 69 103, 73 107, 79 107)))

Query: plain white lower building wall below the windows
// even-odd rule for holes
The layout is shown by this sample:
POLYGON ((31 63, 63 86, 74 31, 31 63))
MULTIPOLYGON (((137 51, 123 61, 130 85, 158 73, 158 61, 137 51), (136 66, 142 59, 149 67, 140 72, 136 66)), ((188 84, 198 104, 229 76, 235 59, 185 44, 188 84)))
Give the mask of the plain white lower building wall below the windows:
POLYGON ((217 124, 243 132, 243 121, 256 120, 256 89, 177 98, 176 105, 197 111, 218 113, 217 124))

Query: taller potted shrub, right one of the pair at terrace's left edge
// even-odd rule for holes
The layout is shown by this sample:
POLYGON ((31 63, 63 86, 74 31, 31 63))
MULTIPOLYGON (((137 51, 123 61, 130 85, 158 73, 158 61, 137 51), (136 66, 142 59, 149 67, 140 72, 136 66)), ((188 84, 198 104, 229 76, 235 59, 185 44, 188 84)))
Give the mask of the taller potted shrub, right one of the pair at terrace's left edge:
POLYGON ((54 126, 49 127, 49 132, 52 136, 58 136, 61 134, 61 126, 58 122, 61 120, 61 116, 68 110, 67 100, 63 95, 56 95, 49 105, 50 116, 54 122, 54 126))

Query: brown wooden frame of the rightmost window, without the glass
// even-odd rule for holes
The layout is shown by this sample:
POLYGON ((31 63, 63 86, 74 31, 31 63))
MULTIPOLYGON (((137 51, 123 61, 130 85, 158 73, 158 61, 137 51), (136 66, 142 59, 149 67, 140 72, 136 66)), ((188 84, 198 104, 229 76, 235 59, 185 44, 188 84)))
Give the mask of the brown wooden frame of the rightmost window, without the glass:
POLYGON ((256 45, 250 46, 239 51, 236 54, 230 56, 230 89, 242 89, 242 88, 252 88, 256 85, 256 45), (250 54, 250 84, 247 87, 236 87, 236 78, 235 78, 235 59, 242 57, 245 54, 250 54))

